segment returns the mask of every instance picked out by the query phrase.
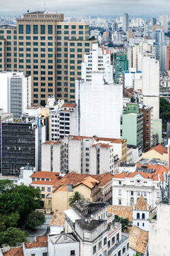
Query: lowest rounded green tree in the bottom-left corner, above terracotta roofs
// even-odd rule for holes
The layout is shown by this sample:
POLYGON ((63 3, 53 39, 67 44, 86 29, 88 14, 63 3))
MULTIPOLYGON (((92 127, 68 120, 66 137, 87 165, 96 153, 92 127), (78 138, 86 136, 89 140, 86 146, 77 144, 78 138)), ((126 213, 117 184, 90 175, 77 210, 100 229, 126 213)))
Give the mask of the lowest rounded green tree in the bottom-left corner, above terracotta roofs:
POLYGON ((0 245, 16 246, 18 242, 26 242, 26 233, 19 228, 7 228, 0 232, 0 245))

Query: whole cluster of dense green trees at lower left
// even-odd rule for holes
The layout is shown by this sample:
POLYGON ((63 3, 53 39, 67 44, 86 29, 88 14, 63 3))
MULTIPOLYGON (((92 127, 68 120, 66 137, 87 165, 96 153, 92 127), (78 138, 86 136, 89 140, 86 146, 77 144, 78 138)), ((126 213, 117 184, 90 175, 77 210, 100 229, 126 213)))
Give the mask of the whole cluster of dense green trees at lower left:
POLYGON ((34 228, 44 223, 43 213, 35 213, 35 209, 43 205, 40 189, 0 181, 0 246, 4 243, 15 246, 26 241, 26 233, 21 228, 29 221, 34 228))

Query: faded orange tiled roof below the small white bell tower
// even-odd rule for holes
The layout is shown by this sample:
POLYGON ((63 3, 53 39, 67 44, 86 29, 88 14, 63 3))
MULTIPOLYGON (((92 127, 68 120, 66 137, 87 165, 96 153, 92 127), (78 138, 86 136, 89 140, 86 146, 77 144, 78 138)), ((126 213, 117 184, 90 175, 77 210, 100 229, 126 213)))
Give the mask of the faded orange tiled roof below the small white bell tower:
POLYGON ((149 240, 149 233, 145 230, 132 226, 128 228, 130 248, 145 255, 149 240))

